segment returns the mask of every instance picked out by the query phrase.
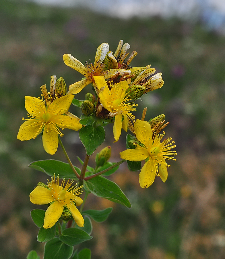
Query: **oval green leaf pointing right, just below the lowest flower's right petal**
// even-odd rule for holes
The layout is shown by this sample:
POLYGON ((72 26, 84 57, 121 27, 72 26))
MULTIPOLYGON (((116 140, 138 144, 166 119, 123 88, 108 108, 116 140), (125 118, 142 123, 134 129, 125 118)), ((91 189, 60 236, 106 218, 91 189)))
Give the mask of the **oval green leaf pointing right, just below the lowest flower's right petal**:
POLYGON ((79 228, 66 228, 63 230, 62 235, 59 236, 59 239, 63 243, 73 246, 92 239, 92 237, 79 228))

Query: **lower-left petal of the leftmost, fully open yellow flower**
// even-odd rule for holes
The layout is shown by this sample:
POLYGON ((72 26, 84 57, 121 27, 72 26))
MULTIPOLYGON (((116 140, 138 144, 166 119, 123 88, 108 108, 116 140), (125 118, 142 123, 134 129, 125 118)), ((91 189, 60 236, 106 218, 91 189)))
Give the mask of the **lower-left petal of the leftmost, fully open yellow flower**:
POLYGON ((40 134, 44 125, 40 120, 26 120, 19 129, 17 138, 19 140, 29 140, 40 134))

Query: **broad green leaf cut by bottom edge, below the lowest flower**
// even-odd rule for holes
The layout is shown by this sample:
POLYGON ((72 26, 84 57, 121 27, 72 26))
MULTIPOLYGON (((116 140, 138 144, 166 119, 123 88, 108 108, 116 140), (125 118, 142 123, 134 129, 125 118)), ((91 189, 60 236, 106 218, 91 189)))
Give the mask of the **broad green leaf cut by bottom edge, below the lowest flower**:
POLYGON ((44 245, 44 259, 69 259, 73 254, 73 247, 64 244, 55 237, 44 245))

